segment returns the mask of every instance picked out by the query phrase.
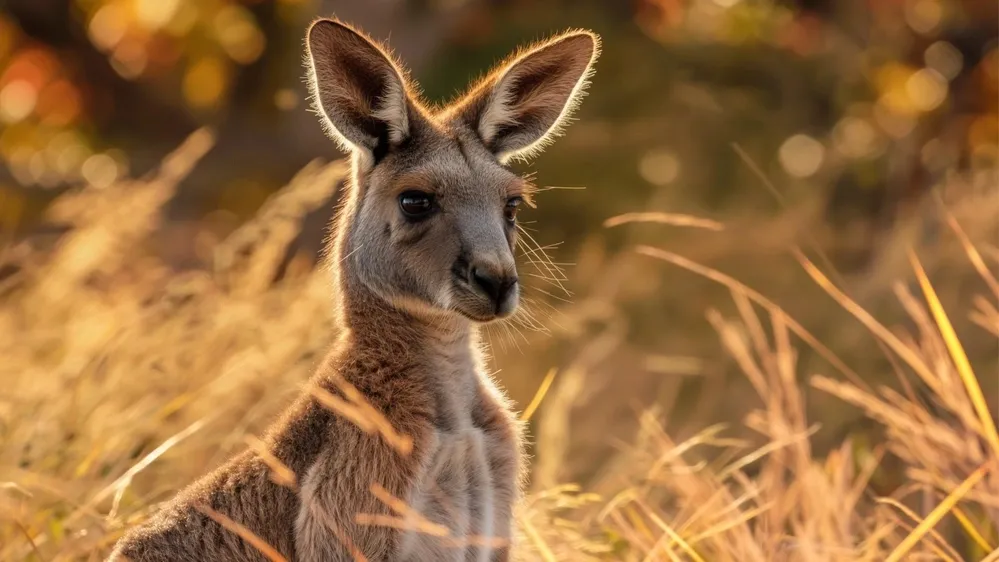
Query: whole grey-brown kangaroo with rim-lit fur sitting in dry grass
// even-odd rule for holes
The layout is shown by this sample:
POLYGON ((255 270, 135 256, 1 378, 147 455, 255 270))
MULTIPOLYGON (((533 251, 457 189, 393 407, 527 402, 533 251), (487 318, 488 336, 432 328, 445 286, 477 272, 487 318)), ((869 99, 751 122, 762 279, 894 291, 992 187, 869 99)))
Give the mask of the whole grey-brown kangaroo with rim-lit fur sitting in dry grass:
POLYGON ((521 432, 477 326, 519 300, 530 192, 507 164, 560 132, 599 39, 570 31, 523 49, 442 108, 345 23, 315 21, 306 44, 316 112, 352 154, 329 252, 338 338, 311 384, 363 397, 409 446, 304 393, 265 434, 267 459, 244 452, 181 491, 111 560, 509 560, 521 432), (295 486, 272 479, 275 461, 295 486))

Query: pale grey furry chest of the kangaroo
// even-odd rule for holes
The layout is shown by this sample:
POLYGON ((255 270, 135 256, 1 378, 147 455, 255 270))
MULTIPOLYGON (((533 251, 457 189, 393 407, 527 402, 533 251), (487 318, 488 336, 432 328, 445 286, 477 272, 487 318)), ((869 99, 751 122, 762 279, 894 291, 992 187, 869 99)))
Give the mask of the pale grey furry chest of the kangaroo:
POLYGON ((503 469, 515 444, 489 428, 434 432, 408 498, 404 560, 503 559, 511 536, 516 481, 503 469))

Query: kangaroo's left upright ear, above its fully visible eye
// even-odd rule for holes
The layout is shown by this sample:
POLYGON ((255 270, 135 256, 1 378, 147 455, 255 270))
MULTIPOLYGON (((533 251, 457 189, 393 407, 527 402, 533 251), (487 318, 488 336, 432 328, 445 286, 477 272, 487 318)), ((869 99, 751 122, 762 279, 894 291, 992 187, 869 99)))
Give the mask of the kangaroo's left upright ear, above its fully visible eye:
POLYGON ((306 42, 316 110, 342 148, 377 159, 409 136, 406 81, 378 44, 328 19, 312 24, 306 42))

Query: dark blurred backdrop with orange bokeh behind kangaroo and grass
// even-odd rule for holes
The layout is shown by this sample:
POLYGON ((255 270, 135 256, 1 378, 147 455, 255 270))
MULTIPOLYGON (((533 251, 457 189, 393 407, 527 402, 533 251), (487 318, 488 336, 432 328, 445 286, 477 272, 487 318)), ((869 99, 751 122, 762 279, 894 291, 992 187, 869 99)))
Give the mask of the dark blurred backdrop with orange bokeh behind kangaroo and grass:
MULTIPOLYGON (((604 41, 596 79, 536 176, 566 189, 543 194, 527 215, 554 261, 575 264, 564 284, 577 297, 539 280, 541 298, 567 320, 528 335, 530 345, 497 336, 504 373, 525 373, 501 375, 521 403, 548 366, 580 357, 593 373, 585 392, 559 396, 579 409, 588 395, 620 396, 579 414, 578 433, 595 437, 579 453, 589 460, 566 466, 586 476, 612 440, 607 428, 637 419, 647 402, 674 404, 691 427, 734 421, 746 407, 704 318, 724 290, 622 252, 638 241, 765 287, 858 371, 889 377, 875 341, 818 289, 802 288, 785 250, 817 251, 864 306, 890 315, 898 307, 882 297, 906 264, 893 244, 900 233, 938 240, 935 201, 967 210, 962 224, 976 240, 992 236, 997 11, 994 0, 6 0, 0 241, 50 243, 67 228, 42 218, 58 195, 141 177, 209 125, 216 145, 150 244, 176 269, 210 268, 215 242, 306 163, 336 156, 301 80, 302 37, 317 15, 389 39, 431 102, 525 40, 591 28, 604 41), (729 231, 600 228, 636 210, 713 217, 729 231), (613 353, 586 355, 597 335, 613 340, 613 353)), ((316 259, 331 212, 332 203, 313 213, 289 260, 316 259)), ((953 303, 972 282, 968 268, 934 256, 928 267, 953 303)), ((969 332, 965 341, 980 372, 994 373, 994 338, 969 332)), ((996 381, 983 384, 994 396, 996 381)), ((841 403, 816 407, 833 427, 852 415, 841 403)))

